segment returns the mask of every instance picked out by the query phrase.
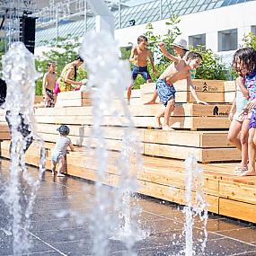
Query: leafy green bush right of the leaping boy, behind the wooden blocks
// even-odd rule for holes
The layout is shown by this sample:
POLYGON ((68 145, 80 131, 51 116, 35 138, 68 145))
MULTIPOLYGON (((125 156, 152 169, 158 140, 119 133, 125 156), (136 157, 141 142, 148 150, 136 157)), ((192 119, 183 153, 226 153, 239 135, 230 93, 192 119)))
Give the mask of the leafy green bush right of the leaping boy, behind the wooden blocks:
POLYGON ((191 50, 198 52, 203 57, 202 64, 197 69, 196 78, 210 80, 227 79, 226 67, 222 63, 221 57, 214 54, 211 49, 204 49, 203 46, 191 50))

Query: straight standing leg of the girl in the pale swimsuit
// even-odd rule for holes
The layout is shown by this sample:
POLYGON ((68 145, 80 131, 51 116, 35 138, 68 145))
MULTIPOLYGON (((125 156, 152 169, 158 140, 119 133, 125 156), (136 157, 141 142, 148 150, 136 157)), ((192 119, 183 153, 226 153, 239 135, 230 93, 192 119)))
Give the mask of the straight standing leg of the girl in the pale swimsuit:
POLYGON ((241 132, 240 132, 240 141, 241 141, 241 167, 247 167, 248 161, 248 127, 250 119, 244 119, 241 132))

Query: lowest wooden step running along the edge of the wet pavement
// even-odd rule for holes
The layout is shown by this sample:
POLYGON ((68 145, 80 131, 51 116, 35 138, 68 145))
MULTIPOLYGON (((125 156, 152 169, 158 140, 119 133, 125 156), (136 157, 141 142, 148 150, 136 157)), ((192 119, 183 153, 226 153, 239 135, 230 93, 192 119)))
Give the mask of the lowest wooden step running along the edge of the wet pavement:
MULTIPOLYGON (((49 150, 53 144, 46 145, 49 150)), ((8 152, 8 142, 2 148, 8 152)), ((36 150, 32 145, 27 152, 29 163, 38 164, 36 150)), ((108 168, 100 179, 96 172, 96 160, 85 148, 67 154, 68 174, 91 181, 101 180, 110 186, 119 186, 119 153, 110 152, 108 168)), ((158 199, 184 204, 185 164, 181 161, 143 156, 144 165, 137 172, 131 164, 130 172, 137 173, 137 191, 158 199)), ((225 216, 232 216, 256 223, 253 210, 256 206, 256 177, 234 176, 235 163, 199 164, 204 170, 208 209, 225 216), (245 210, 240 210, 243 207, 245 210), (235 209, 235 210, 234 210, 235 209)), ((195 193, 193 191, 193 193, 195 193)))

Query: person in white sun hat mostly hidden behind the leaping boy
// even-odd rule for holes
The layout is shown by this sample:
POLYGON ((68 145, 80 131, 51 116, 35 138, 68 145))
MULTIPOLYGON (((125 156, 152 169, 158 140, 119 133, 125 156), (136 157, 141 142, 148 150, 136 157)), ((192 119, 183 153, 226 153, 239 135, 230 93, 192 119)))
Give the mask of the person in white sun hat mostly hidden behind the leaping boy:
MULTIPOLYGON (((175 53, 177 54, 178 57, 186 57, 186 54, 188 53, 189 49, 187 49, 187 41, 184 39, 179 39, 176 38, 173 43, 172 43, 173 49, 175 51, 175 53)), ((166 57, 166 56, 165 56, 166 57)), ((195 73, 195 69, 191 69, 190 72, 193 72, 193 74, 195 73)), ((196 74, 193 75, 192 78, 195 78, 196 74)), ((154 94, 152 99, 149 102, 146 102, 145 105, 149 105, 149 104, 155 104, 156 98, 157 98, 158 94, 156 89, 154 90, 154 94)))

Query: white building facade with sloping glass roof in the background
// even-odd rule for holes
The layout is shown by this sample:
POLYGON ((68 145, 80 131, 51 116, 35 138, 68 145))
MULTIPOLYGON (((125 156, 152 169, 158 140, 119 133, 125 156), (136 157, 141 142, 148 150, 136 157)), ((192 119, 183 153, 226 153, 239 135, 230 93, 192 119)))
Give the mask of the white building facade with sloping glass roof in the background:
MULTIPOLYGON (((146 24, 151 22, 155 34, 165 34, 165 22, 177 14, 181 17, 179 29, 181 36, 190 45, 205 45, 230 59, 234 50, 243 44, 244 35, 250 31, 256 33, 256 1, 255 0, 154 0, 147 4, 129 7, 119 6, 112 11, 115 17, 115 38, 119 46, 137 43, 137 36, 146 31, 146 24)), ((58 36, 83 37, 87 31, 94 29, 94 18, 86 18, 75 22, 61 22, 57 30, 58 36)), ((42 46, 43 40, 56 36, 54 27, 37 30, 36 45, 42 46)))

